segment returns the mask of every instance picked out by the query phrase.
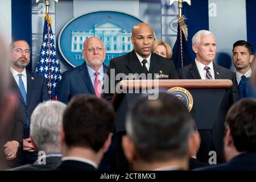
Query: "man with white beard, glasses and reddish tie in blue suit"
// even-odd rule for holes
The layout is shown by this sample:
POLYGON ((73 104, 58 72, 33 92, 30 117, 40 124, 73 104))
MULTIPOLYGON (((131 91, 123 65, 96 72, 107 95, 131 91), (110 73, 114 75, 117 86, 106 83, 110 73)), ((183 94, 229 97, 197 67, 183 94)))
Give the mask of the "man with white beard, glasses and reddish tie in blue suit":
POLYGON ((82 50, 85 62, 63 73, 57 89, 57 100, 67 103, 79 93, 93 94, 101 98, 104 73, 108 69, 103 64, 105 53, 101 39, 92 36, 85 40, 82 50))

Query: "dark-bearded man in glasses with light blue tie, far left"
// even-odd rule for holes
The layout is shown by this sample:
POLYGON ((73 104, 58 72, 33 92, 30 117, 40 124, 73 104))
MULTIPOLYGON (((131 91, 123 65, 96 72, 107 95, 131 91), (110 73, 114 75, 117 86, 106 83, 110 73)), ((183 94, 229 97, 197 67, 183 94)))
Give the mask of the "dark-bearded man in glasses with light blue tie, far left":
POLYGON ((23 121, 23 151, 17 156, 16 166, 34 163, 37 159, 30 140, 30 117, 35 107, 48 100, 46 80, 43 76, 28 71, 30 46, 26 40, 15 40, 10 44, 12 88, 19 98, 19 113, 23 121))

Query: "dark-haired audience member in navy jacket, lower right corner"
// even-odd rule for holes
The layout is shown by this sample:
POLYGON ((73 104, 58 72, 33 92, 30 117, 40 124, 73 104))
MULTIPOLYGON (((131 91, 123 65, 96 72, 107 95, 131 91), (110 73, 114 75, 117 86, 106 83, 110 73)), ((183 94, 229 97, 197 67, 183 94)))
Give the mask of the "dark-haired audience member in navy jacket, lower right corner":
POLYGON ((243 98, 226 116, 224 155, 227 163, 203 171, 256 171, 256 101, 243 98))

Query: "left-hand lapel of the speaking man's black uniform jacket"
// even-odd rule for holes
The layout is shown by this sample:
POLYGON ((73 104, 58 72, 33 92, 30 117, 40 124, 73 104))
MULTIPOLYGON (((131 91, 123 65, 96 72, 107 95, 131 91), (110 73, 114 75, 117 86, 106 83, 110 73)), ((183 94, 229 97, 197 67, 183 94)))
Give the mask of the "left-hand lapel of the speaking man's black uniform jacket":
POLYGON ((130 69, 131 73, 138 73, 139 75, 143 73, 142 65, 134 50, 130 53, 130 60, 127 67, 130 69))

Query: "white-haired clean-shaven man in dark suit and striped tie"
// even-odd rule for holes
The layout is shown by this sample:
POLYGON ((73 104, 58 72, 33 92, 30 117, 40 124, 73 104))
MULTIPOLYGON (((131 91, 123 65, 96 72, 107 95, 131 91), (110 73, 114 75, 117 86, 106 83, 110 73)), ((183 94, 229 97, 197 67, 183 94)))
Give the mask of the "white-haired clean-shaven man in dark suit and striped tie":
POLYGON ((210 129, 197 127, 201 137, 201 146, 197 158, 201 162, 207 162, 209 151, 217 152, 217 160, 222 159, 222 139, 224 134, 224 119, 229 107, 238 100, 237 80, 234 72, 213 63, 216 56, 216 40, 212 32, 198 31, 192 38, 192 48, 196 53, 193 63, 178 69, 180 79, 229 79, 233 81, 233 87, 227 89, 219 109, 218 119, 210 129))

